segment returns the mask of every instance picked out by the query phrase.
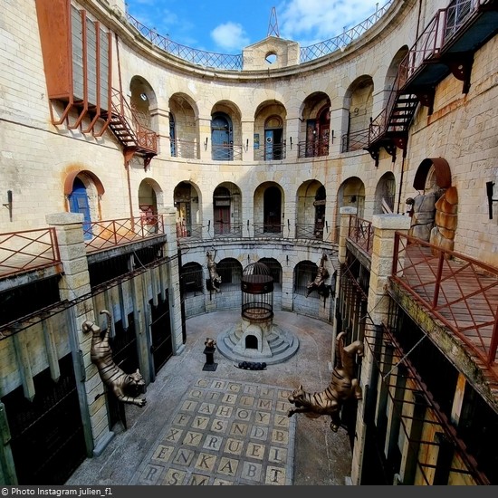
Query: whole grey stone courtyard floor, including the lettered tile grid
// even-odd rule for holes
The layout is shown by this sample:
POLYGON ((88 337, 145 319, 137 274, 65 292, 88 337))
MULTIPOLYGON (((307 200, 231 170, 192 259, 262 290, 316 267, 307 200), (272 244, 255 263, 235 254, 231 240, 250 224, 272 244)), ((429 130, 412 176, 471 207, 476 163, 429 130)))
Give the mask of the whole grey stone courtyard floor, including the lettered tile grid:
POLYGON ((275 311, 273 322, 299 338, 292 358, 245 370, 216 348, 216 368, 206 371, 206 338, 239 319, 237 311, 189 318, 185 345, 148 384, 145 407, 125 405, 126 428, 113 426, 109 443, 65 484, 348 484, 347 431, 332 432, 330 417, 287 417, 292 389, 321 391, 330 383, 330 324, 275 311))

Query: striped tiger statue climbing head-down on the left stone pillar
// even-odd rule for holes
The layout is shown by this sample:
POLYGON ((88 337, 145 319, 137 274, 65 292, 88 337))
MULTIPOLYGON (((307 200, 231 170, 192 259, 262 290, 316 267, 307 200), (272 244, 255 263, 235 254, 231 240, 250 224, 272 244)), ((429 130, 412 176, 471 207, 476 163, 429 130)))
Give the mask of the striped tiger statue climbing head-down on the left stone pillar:
POLYGON ((101 314, 107 315, 107 329, 102 335, 101 328, 92 321, 84 321, 81 325, 83 332, 92 333, 91 336, 91 362, 99 370, 102 382, 110 388, 114 395, 123 403, 144 407, 145 397, 139 397, 145 388, 145 381, 137 369, 131 374, 125 373, 112 359, 112 350, 109 344, 110 312, 102 310, 101 314))

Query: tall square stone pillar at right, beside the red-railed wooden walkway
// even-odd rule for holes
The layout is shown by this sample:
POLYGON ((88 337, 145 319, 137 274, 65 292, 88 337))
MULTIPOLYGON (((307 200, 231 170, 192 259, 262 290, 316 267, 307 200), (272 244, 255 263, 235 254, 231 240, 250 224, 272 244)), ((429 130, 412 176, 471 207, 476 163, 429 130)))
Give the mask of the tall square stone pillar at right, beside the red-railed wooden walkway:
MULTIPOLYGON (((388 316, 387 284, 388 277, 392 273, 395 233, 399 231, 407 234, 410 221, 411 218, 409 216, 403 215, 374 215, 372 217, 374 239, 370 260, 368 311, 375 325, 381 325, 388 316)), ((358 403, 356 438, 351 464, 351 481, 356 485, 359 485, 363 465, 366 437, 363 414, 365 411, 366 387, 370 384, 369 375, 372 370, 372 364, 371 351, 368 347, 365 347, 365 356, 361 362, 361 376, 359 379, 359 385, 363 389, 364 398, 358 403)), ((368 464, 368 462, 365 464, 368 464)))

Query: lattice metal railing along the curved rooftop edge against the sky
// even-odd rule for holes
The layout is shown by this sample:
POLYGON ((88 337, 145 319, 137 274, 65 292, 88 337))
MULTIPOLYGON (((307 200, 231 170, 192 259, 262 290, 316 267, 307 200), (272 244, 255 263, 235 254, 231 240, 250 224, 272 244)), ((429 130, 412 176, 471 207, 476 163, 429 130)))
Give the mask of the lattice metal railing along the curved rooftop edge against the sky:
MULTIPOLYGON (((369 15, 367 19, 359 24, 356 24, 349 30, 344 30, 338 36, 334 36, 329 40, 320 43, 314 43, 307 47, 300 49, 300 62, 309 62, 318 59, 323 55, 335 52, 336 50, 343 50, 349 43, 353 42, 359 36, 369 30, 378 20, 388 12, 389 7, 393 4, 394 0, 388 2, 382 7, 376 7, 374 14, 369 15)), ((149 42, 158 46, 179 59, 198 64, 206 68, 215 68, 223 70, 241 71, 243 69, 244 60, 242 53, 231 55, 225 53, 206 52, 204 50, 197 50, 195 48, 187 47, 180 43, 173 42, 168 37, 158 34, 154 29, 148 28, 145 24, 140 23, 132 15, 126 13, 128 23, 133 26, 139 34, 148 39, 149 42)))

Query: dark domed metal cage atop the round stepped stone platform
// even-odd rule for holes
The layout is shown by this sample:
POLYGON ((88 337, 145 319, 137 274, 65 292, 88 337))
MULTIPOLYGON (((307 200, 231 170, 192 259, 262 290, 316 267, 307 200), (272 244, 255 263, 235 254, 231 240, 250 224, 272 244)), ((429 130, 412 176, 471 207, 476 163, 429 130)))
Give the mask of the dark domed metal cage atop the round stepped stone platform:
POLYGON ((242 273, 242 317, 261 323, 273 319, 273 276, 264 263, 251 263, 242 273))

